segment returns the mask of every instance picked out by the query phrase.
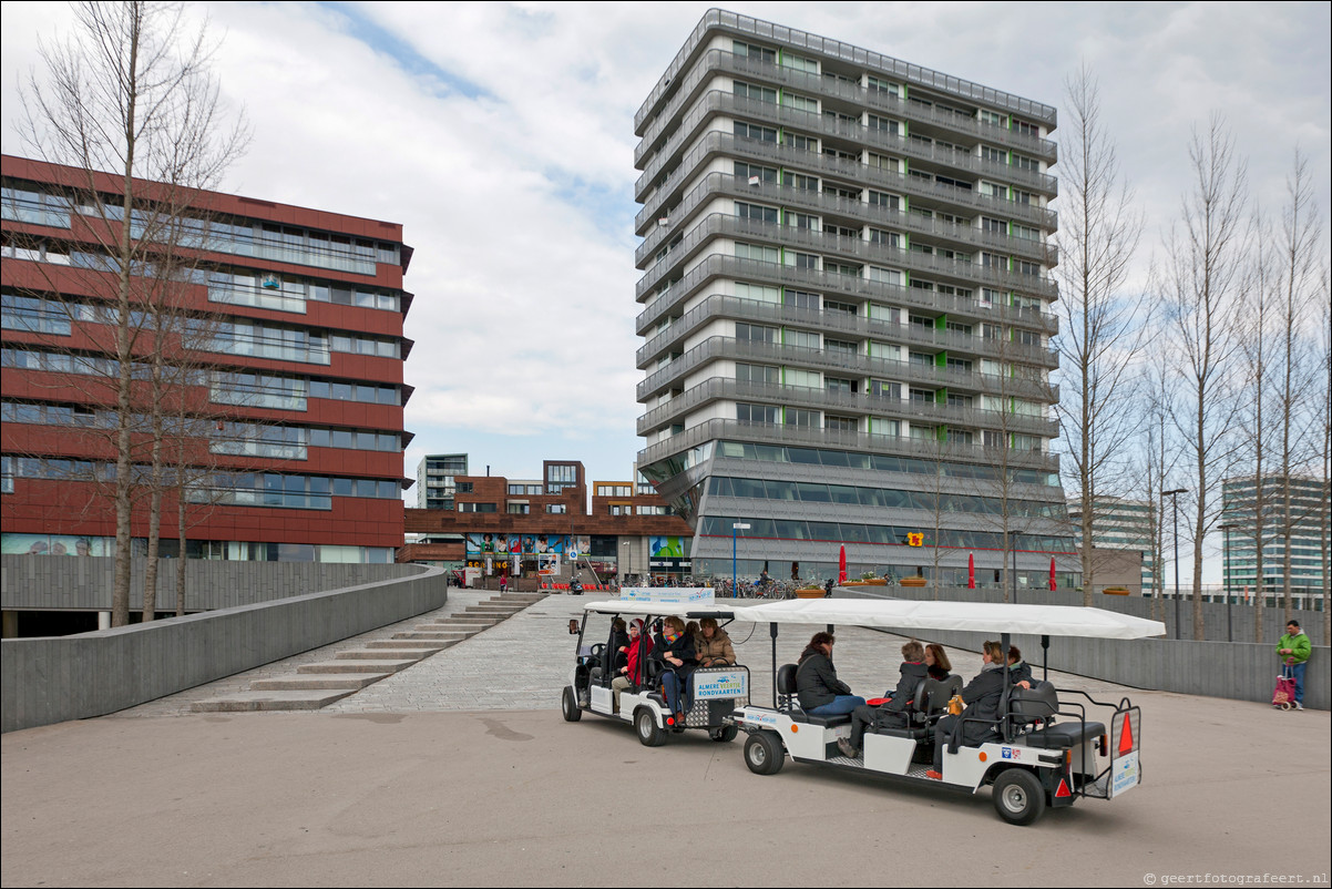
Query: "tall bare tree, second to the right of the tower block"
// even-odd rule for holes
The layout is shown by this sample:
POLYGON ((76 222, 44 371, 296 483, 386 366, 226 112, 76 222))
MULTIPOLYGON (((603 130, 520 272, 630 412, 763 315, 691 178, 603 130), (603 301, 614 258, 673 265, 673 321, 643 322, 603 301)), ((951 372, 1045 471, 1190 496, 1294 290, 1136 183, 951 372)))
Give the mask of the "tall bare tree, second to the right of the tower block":
POLYGON ((1216 488, 1233 458, 1229 432, 1239 404, 1233 317, 1247 188, 1245 164, 1235 156, 1233 137, 1219 116, 1212 116, 1205 133, 1195 131, 1188 153, 1193 183, 1181 200, 1179 227, 1167 240, 1160 287, 1177 337, 1183 409, 1175 425, 1188 446, 1195 481, 1193 638, 1201 640, 1203 546, 1220 516, 1216 488))

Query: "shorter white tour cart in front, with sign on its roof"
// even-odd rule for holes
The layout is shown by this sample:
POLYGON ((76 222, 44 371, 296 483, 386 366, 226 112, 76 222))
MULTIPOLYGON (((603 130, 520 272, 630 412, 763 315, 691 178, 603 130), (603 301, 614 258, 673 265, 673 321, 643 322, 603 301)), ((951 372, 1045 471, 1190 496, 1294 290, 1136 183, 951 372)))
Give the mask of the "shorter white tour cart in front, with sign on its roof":
POLYGON ((574 668, 569 685, 561 694, 561 710, 569 722, 594 713, 634 725, 638 740, 646 746, 659 746, 670 733, 702 729, 714 741, 733 741, 738 733, 731 713, 749 704, 750 672, 747 666, 698 668, 689 681, 693 706, 685 712, 683 725, 666 706, 661 693, 661 661, 638 660, 633 685, 621 692, 618 705, 610 682, 615 674, 615 652, 611 650, 611 621, 642 618, 647 636, 655 636, 663 617, 682 621, 711 617, 726 624, 735 617, 734 608, 718 608, 710 588, 626 588, 621 598, 591 601, 583 605, 583 617, 569 621, 569 633, 578 636, 574 668), (598 641, 593 641, 598 640, 598 641), (599 641, 606 640, 606 641, 599 641))

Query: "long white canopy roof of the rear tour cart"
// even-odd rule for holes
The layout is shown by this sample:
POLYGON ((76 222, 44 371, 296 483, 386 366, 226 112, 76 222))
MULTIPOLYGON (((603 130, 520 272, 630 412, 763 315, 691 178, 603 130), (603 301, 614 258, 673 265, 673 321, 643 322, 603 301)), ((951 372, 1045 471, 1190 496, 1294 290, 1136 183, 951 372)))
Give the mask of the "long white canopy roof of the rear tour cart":
POLYGON ((1072 605, 1003 605, 883 598, 798 598, 735 609, 737 621, 755 624, 847 624, 895 630, 976 630, 1031 636, 1146 638, 1166 625, 1142 617, 1072 605))

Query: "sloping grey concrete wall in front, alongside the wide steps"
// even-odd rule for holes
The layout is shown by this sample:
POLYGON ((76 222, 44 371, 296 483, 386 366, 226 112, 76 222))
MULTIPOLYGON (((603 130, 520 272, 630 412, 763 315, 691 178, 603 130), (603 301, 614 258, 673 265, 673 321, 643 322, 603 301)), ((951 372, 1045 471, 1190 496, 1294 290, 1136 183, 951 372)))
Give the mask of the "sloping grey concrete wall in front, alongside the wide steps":
POLYGON ((104 716, 444 605, 442 569, 398 568, 410 576, 95 633, 3 640, 0 732, 104 716))

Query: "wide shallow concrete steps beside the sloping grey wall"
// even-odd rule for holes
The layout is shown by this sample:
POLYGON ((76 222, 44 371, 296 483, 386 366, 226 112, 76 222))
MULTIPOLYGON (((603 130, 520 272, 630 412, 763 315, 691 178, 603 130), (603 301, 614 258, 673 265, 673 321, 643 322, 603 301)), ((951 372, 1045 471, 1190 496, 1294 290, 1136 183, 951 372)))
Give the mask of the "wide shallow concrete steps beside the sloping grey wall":
POLYGON ((196 701, 193 709, 200 713, 317 710, 490 629, 545 597, 546 593, 493 596, 448 617, 397 632, 390 638, 340 650, 333 660, 301 664, 294 673, 254 680, 248 692, 196 701))

